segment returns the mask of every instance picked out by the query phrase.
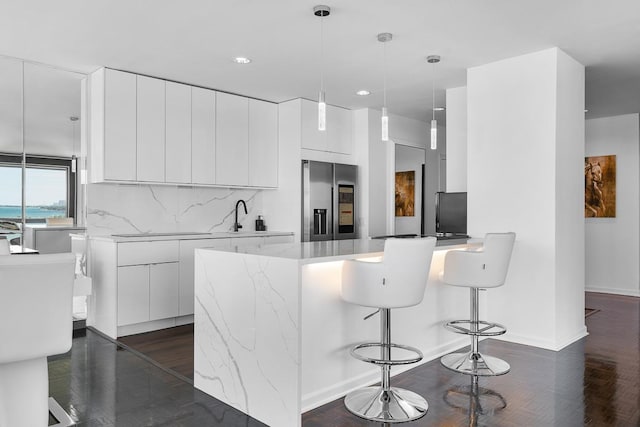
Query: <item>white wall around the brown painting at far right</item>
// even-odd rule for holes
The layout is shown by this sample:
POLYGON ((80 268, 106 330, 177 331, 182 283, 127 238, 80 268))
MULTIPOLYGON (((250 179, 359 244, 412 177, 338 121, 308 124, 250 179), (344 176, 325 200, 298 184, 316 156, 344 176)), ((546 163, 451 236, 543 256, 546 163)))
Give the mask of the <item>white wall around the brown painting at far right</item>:
POLYGON ((640 296, 638 114, 586 122, 586 156, 616 156, 616 217, 585 218, 586 289, 640 296))

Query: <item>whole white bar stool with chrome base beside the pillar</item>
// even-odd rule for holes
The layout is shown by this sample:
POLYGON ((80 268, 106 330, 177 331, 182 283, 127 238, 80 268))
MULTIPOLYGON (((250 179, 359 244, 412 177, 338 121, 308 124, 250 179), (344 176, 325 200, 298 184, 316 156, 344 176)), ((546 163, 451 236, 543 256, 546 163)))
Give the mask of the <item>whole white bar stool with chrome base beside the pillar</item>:
POLYGON ((511 369, 504 360, 483 355, 478 350, 479 337, 502 335, 507 331, 499 323, 479 320, 478 294, 480 289, 504 284, 515 238, 515 233, 488 233, 479 250, 447 252, 442 280, 449 285, 470 288, 471 293, 470 319, 445 325, 452 332, 471 335, 471 350, 443 356, 440 362, 447 368, 474 376, 503 375, 511 369))

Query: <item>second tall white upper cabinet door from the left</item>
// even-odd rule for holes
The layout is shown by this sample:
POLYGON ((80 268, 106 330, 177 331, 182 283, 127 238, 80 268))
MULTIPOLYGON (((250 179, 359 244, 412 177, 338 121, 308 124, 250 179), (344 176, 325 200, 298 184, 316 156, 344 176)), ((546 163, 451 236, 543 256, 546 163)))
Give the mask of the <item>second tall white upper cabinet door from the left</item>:
POLYGON ((137 181, 164 182, 164 80, 137 77, 137 181))

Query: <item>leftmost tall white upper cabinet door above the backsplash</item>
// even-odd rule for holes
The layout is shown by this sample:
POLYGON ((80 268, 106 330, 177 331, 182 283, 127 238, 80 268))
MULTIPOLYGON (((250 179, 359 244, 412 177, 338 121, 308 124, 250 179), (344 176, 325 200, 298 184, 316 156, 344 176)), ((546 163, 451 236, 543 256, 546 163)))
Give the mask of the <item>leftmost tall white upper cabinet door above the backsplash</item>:
POLYGON ((105 70, 104 179, 136 180, 136 86, 135 74, 105 70))

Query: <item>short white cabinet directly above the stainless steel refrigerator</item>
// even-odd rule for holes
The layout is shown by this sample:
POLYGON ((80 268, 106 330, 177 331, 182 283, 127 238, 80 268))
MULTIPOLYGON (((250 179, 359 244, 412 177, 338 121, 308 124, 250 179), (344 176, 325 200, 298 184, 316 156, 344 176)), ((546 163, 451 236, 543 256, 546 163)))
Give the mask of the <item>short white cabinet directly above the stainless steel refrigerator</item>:
POLYGON ((351 154, 353 119, 351 110, 327 105, 327 129, 318 130, 318 103, 302 99, 302 148, 351 154))

